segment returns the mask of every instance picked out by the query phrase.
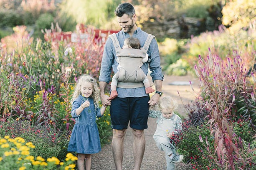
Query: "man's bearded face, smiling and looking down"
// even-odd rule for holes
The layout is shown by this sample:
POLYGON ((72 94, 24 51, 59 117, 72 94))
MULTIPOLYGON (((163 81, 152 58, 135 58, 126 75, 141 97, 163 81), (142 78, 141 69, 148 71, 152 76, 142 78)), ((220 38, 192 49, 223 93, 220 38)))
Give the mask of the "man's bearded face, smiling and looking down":
POLYGON ((124 32, 131 32, 134 27, 135 16, 136 15, 134 14, 132 19, 127 14, 124 14, 122 17, 117 17, 117 22, 124 32))

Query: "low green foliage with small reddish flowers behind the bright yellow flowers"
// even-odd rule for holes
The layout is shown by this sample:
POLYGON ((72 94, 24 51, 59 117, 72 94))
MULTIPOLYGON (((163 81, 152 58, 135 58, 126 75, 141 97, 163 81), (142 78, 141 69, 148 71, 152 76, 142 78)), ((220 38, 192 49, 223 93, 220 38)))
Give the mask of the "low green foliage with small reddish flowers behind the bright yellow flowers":
POLYGON ((49 126, 30 125, 29 121, 7 121, 1 123, 0 136, 21 137, 35 145, 30 154, 43 158, 65 159, 69 141, 68 131, 57 131, 49 126))

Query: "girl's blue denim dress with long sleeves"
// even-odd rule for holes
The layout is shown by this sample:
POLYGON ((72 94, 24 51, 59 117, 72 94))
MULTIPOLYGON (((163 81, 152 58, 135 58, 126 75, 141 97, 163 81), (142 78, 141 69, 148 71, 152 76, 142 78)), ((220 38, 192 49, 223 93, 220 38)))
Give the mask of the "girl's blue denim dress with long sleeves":
POLYGON ((96 124, 96 117, 101 117, 101 112, 100 108, 95 108, 94 100, 79 95, 72 104, 71 116, 76 118, 76 123, 68 143, 68 152, 91 154, 101 151, 99 131, 96 124), (86 100, 90 101, 90 106, 84 108, 81 114, 77 116, 76 109, 86 100))

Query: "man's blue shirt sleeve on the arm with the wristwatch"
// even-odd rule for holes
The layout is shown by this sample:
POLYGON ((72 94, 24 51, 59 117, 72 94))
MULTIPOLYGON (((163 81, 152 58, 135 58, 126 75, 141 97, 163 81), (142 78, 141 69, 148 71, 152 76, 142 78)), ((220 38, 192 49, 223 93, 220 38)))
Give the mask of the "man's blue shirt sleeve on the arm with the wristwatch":
POLYGON ((162 74, 162 67, 160 66, 160 55, 158 50, 158 45, 156 39, 152 39, 149 49, 149 57, 150 57, 150 76, 152 77, 152 81, 154 80, 163 80, 164 75, 162 74))

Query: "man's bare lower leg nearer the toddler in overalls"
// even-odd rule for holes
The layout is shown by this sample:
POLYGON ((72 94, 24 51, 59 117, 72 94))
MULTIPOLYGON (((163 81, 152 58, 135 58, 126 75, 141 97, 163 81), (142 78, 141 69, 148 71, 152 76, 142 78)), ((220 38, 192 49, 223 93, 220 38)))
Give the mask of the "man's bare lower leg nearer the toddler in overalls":
POLYGON ((144 151, 145 151, 145 136, 144 130, 132 129, 133 134, 133 157, 134 157, 134 170, 139 170, 144 151))

